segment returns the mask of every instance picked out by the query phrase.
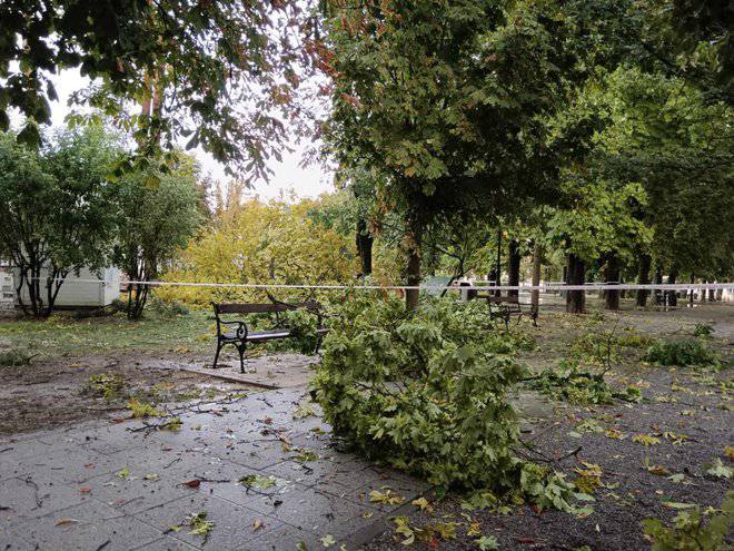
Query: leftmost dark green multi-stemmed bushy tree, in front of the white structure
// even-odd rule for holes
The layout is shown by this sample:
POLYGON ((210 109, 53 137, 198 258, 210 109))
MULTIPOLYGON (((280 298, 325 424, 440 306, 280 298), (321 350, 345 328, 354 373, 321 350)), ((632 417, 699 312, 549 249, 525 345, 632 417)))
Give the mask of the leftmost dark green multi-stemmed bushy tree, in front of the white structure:
POLYGON ((107 264, 119 155, 100 127, 59 131, 41 151, 0 136, 0 257, 18 267, 23 311, 48 316, 63 277, 107 264))

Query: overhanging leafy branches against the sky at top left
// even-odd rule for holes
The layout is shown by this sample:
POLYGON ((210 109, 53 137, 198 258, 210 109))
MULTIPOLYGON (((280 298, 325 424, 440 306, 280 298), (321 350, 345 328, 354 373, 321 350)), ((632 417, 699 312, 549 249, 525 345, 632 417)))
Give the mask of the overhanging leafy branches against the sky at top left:
POLYGON ((305 52, 291 33, 307 13, 291 2, 4 2, 0 130, 18 108, 21 137, 40 141, 38 125, 58 99, 50 75, 77 68, 93 85, 75 99, 95 109, 72 114, 72 124, 103 114, 135 130, 143 157, 186 138, 188 148, 262 176, 298 87, 294 66, 305 52), (141 114, 130 110, 140 104, 141 114))

